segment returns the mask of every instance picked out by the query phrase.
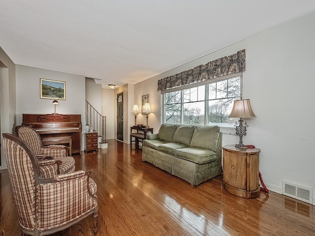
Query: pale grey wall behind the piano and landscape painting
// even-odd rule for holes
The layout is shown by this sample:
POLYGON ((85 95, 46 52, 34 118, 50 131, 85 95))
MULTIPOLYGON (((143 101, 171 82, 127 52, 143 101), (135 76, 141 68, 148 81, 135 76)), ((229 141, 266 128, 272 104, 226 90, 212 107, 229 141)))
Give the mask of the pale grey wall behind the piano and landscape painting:
POLYGON ((64 81, 65 100, 58 100, 56 113, 81 114, 82 143, 84 150, 85 133, 85 76, 16 65, 16 121, 22 123, 22 114, 54 113, 52 99, 40 98, 40 78, 64 81))

